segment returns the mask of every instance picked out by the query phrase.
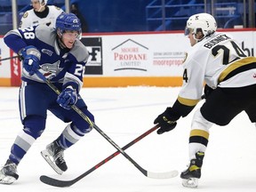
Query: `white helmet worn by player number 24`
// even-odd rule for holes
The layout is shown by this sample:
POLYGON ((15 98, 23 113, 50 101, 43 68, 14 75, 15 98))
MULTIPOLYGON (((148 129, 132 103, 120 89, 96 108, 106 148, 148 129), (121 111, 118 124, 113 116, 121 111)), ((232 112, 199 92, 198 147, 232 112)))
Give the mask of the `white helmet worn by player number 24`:
POLYGON ((205 37, 213 34, 216 30, 216 20, 212 17, 211 14, 203 12, 192 15, 188 18, 187 26, 185 28, 185 36, 188 36, 189 32, 192 32, 195 37, 198 31, 202 31, 205 37))

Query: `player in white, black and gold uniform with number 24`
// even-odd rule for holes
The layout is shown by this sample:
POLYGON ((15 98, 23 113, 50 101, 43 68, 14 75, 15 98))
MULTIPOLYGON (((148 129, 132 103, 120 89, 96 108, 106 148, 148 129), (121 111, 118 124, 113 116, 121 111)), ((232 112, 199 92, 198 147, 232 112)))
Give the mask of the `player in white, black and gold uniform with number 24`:
POLYGON ((161 126, 158 134, 174 129, 180 116, 188 116, 195 108, 206 83, 206 101, 191 124, 190 164, 180 174, 185 187, 197 187, 212 124, 227 125, 242 111, 256 122, 256 58, 247 57, 231 36, 216 29, 210 14, 188 19, 185 35, 192 49, 183 63, 183 84, 172 108, 166 108, 154 122, 161 126))

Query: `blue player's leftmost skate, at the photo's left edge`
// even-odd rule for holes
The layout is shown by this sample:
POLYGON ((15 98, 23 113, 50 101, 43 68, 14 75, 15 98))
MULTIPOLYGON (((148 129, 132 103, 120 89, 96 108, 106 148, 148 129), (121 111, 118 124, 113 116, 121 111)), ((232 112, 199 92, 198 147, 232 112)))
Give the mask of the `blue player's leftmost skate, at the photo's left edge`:
POLYGON ((18 180, 17 164, 14 164, 11 160, 7 160, 4 167, 0 171, 0 183, 12 184, 15 180, 18 180))

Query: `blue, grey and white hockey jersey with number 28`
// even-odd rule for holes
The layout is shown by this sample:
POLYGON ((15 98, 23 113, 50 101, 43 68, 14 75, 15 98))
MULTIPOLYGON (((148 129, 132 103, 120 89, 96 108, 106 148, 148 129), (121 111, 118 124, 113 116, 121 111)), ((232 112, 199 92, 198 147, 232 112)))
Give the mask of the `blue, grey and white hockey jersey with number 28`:
MULTIPOLYGON (((4 43, 14 52, 28 45, 34 45, 41 52, 39 71, 52 83, 72 85, 77 92, 83 86, 83 74, 89 53, 78 39, 71 50, 60 49, 55 28, 38 25, 30 28, 19 28, 9 31, 4 36, 4 43)), ((23 68, 21 79, 25 82, 44 83, 35 75, 29 76, 23 68)))

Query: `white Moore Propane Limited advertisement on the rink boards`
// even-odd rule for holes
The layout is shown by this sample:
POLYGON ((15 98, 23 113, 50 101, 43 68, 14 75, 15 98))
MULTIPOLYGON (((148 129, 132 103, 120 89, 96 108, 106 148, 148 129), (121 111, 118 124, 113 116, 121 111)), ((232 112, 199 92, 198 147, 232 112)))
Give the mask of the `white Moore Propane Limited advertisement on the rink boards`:
POLYGON ((115 41, 105 36, 103 40, 104 76, 182 76, 189 44, 180 34, 124 35, 115 36, 115 41))

